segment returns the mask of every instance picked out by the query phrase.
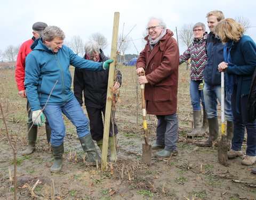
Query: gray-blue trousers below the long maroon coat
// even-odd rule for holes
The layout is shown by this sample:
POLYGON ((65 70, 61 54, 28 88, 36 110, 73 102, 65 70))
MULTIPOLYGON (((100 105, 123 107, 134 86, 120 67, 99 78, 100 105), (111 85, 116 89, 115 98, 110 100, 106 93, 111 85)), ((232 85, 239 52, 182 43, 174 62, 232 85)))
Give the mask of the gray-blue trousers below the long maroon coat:
POLYGON ((156 143, 158 145, 165 145, 165 150, 177 150, 178 139, 178 118, 177 114, 172 115, 156 115, 156 143))

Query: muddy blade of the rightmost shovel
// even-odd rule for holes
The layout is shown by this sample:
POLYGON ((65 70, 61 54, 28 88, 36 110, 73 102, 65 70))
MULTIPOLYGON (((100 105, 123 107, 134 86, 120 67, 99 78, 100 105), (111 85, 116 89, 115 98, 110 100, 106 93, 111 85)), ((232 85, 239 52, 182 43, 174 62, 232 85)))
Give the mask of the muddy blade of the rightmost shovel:
POLYGON ((218 140, 218 161, 224 166, 228 164, 228 145, 226 142, 226 135, 221 135, 221 139, 218 140))

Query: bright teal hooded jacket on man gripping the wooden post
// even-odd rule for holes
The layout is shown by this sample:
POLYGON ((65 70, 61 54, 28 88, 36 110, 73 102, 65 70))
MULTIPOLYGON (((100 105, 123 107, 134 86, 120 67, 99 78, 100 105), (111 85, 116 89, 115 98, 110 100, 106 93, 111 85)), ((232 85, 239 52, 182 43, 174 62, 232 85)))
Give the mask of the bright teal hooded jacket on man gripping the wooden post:
POLYGON ((26 57, 25 87, 32 111, 42 109, 57 81, 47 105, 62 104, 75 98, 71 91, 69 65, 91 71, 103 70, 102 62, 83 59, 65 45, 54 53, 41 38, 31 45, 31 50, 26 57))

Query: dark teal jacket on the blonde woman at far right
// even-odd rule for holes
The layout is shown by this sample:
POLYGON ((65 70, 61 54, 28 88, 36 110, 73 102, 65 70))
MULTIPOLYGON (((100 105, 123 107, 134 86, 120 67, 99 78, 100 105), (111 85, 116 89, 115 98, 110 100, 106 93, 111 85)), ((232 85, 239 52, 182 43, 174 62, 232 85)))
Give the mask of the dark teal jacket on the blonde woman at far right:
MULTIPOLYGON (((239 97, 249 95, 251 89, 252 76, 256 67, 255 42, 250 36, 243 35, 238 42, 233 41, 230 49, 230 57, 234 65, 228 65, 227 73, 236 75, 236 104, 238 105, 240 102, 239 97)), ((237 106, 236 109, 238 111, 237 106)))

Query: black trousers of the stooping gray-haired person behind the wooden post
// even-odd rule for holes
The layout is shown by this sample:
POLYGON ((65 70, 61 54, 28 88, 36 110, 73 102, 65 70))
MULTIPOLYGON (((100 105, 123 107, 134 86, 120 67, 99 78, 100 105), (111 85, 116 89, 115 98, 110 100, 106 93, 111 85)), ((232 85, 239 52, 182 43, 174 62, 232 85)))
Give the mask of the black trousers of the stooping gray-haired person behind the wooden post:
MULTIPOLYGON (((103 139, 103 119, 102 114, 105 117, 106 106, 103 108, 93 108, 87 107, 87 114, 90 120, 90 132, 92 134, 92 139, 95 141, 99 141, 103 139)), ((115 123, 115 110, 111 110, 110 117, 110 126, 109 126, 109 136, 113 136, 113 124, 114 124, 114 134, 118 133, 118 129, 115 123)))

